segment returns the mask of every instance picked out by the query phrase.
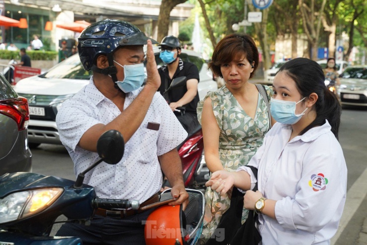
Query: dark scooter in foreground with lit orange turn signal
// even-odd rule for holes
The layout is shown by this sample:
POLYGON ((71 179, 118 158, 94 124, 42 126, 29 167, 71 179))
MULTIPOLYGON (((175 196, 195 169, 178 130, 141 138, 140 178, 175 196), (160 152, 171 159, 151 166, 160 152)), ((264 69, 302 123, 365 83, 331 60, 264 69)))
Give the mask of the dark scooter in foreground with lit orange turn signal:
MULTIPOLYGON (((69 222, 88 225, 98 208, 137 210, 139 202, 136 200, 101 199, 97 197, 92 186, 83 184, 85 173, 102 161, 108 164, 119 163, 123 150, 121 133, 110 130, 98 140, 97 152, 100 159, 79 173, 76 181, 30 172, 5 173, 0 176, 0 244, 81 245, 80 238, 50 237, 52 226, 59 216, 64 215, 69 222)), ((176 238, 181 239, 181 245, 196 243, 201 234, 204 217, 205 200, 202 193, 197 190, 187 192, 190 200, 186 208, 187 213, 182 212, 182 205, 176 205, 176 208, 181 209, 180 214, 184 214, 183 220, 186 221, 186 229, 183 229, 184 223, 180 227, 187 231, 185 237, 176 238)), ((161 197, 172 199, 171 194, 161 197)), ((162 202, 162 198, 156 205, 167 203, 162 202)), ((162 210, 163 206, 159 208, 162 210)), ((150 215, 156 214, 155 212, 156 210, 150 215)), ((150 220, 154 221, 154 216, 150 220)))

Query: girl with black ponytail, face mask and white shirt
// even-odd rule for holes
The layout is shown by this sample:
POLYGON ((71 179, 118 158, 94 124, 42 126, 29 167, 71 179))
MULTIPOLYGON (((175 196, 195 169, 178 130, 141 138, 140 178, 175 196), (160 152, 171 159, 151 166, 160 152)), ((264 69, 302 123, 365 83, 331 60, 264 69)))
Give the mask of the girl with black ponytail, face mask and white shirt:
POLYGON ((246 191, 244 207, 260 213, 263 245, 329 245, 343 212, 347 167, 338 142, 341 107, 321 67, 291 60, 275 76, 271 114, 278 122, 248 165, 216 171, 207 186, 246 191), (251 189, 258 183, 258 191, 251 189))

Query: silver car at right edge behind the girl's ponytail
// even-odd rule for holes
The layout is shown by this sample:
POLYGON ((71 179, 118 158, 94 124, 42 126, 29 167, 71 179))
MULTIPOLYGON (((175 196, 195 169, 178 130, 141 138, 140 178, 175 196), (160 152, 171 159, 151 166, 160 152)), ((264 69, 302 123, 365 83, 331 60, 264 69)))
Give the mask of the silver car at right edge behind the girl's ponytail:
POLYGON ((347 67, 336 91, 342 105, 367 106, 367 66, 347 67))

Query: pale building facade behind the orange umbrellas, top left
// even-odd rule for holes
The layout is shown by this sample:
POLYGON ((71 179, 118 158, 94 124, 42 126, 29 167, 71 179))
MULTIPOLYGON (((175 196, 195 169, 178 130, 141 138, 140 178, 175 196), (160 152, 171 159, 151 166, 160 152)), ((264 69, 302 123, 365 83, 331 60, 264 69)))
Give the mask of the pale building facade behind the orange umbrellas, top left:
MULTIPOLYGON (((75 39, 80 33, 57 27, 57 24, 84 20, 89 23, 115 18, 135 24, 148 36, 158 36, 157 20, 161 0, 4 0, 3 14, 16 20, 25 18, 27 28, 1 27, 1 42, 26 48, 38 35, 45 50, 58 50, 61 39, 75 39), (46 28, 50 21, 52 28, 46 28)), ((177 5, 170 13, 169 34, 179 35, 179 22, 191 14, 192 4, 177 5)))

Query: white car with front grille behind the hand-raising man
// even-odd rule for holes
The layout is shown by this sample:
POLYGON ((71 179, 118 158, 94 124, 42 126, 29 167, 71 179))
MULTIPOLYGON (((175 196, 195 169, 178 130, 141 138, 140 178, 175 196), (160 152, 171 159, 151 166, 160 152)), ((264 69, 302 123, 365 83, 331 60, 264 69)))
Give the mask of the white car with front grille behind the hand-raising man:
MULTIPOLYGON (((159 58, 158 47, 154 47, 154 54, 160 67, 163 62, 159 58)), ((183 49, 180 57, 183 61, 194 63, 199 69, 200 98, 203 98, 208 91, 217 89, 212 72, 207 69, 207 64, 198 53, 183 49)), ((41 143, 61 144, 55 122, 56 114, 62 102, 88 84, 91 76, 92 72, 83 69, 78 54, 75 54, 46 73, 23 79, 14 86, 15 91, 26 97, 29 102, 30 147, 37 147, 41 143)))

